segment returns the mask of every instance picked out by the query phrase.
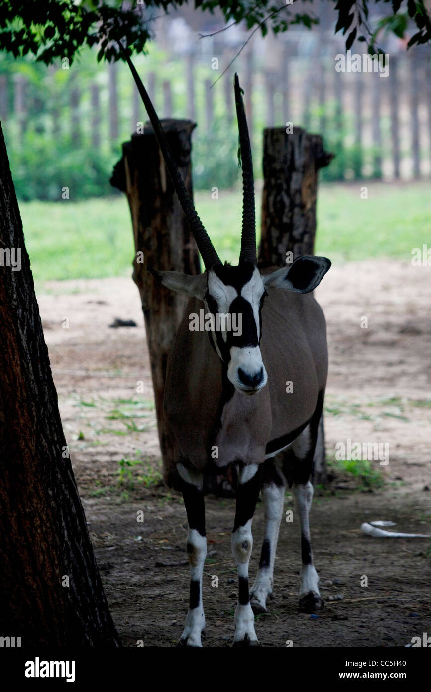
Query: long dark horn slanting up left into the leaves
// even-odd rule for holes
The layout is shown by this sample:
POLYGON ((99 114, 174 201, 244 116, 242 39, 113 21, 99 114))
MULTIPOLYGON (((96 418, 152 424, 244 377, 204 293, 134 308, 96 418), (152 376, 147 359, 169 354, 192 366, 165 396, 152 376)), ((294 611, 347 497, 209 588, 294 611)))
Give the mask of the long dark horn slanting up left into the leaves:
POLYGON ((185 189, 181 173, 179 172, 178 167, 174 161, 174 156, 172 155, 169 144, 167 143, 165 133, 163 132, 163 127, 161 126, 161 122, 157 117, 157 113, 154 110, 154 106, 151 102, 151 99, 149 98, 147 90, 145 89, 145 86, 143 85, 143 82, 140 79, 140 76, 138 75, 133 62, 131 62, 129 54, 127 53, 127 51, 125 51, 125 49, 122 46, 121 49, 123 55, 127 60, 127 64, 129 65, 133 78, 136 82, 136 86, 138 87, 138 91, 144 102, 145 108, 147 109, 148 117, 153 126, 158 146, 161 148, 163 158, 165 159, 167 172, 169 173, 169 176, 172 180, 172 184, 174 185, 176 194, 178 194, 178 199, 180 201, 181 207, 183 208, 185 218, 189 223, 190 230, 192 231, 193 237, 196 240, 196 245, 198 246, 199 252, 201 253, 203 264, 205 264, 205 269, 208 270, 212 266, 214 266, 214 264, 221 264, 219 255, 217 255, 217 252, 214 250, 214 246, 212 245, 210 237, 208 236, 208 233, 203 227, 201 219, 199 219, 199 216, 197 215, 192 200, 187 194, 187 190, 185 189))

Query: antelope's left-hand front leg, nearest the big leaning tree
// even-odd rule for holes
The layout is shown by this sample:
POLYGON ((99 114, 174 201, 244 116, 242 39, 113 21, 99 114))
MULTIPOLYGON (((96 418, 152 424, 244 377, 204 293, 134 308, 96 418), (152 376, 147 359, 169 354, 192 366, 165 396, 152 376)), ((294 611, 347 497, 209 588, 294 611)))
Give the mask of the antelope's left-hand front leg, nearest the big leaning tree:
POLYGON ((205 629, 205 614, 203 613, 202 603, 202 575, 203 564, 207 554, 203 480, 201 473, 189 471, 183 464, 178 464, 176 468, 181 477, 181 491, 189 525, 187 556, 190 562, 189 610, 178 646, 202 646, 201 632, 205 629))

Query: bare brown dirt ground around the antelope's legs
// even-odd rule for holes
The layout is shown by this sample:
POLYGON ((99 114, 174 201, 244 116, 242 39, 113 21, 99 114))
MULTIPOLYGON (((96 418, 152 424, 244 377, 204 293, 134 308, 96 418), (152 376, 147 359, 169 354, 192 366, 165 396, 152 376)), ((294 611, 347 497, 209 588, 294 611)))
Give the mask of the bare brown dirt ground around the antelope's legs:
MULTIPOLYGON (((389 443, 389 464, 372 462, 376 478, 365 483, 339 472, 329 490, 315 493, 311 536, 325 600, 317 618, 297 609, 298 529, 282 522, 275 599, 268 614, 257 617, 257 635, 276 647, 287 640, 302 647, 405 646, 422 632, 431 634, 430 540, 370 538, 360 526, 392 520, 393 530, 431 534, 430 269, 389 260, 333 266, 315 293, 329 332, 327 453, 333 458, 336 443, 347 438, 389 443)), ((187 612, 187 528, 181 498, 158 483, 138 291, 127 277, 50 282, 38 300, 73 470, 122 643, 175 646, 187 612), (113 329, 116 317, 138 326, 113 329)), ((207 498, 206 507, 203 644, 230 646, 235 506, 207 498)), ((252 582, 262 532, 259 503, 252 582)))

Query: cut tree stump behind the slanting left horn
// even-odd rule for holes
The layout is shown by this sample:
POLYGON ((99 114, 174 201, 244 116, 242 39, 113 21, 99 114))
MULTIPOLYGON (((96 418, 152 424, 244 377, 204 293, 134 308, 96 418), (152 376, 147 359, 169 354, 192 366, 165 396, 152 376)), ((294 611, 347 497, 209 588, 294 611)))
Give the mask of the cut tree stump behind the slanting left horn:
MULTIPOLYGON (((192 197, 190 150, 195 125, 189 120, 162 120, 162 124, 187 192, 192 197)), ((129 200, 136 250, 133 278, 145 317, 165 481, 172 486, 175 484, 174 450, 165 429, 163 388, 167 356, 183 318, 187 298, 155 281, 147 272, 147 266, 196 275, 201 271, 199 254, 152 127, 146 125, 143 134, 132 136, 131 141, 123 145, 122 152, 111 183, 125 192, 129 200), (140 262, 139 253, 143 253, 144 262, 140 262)))

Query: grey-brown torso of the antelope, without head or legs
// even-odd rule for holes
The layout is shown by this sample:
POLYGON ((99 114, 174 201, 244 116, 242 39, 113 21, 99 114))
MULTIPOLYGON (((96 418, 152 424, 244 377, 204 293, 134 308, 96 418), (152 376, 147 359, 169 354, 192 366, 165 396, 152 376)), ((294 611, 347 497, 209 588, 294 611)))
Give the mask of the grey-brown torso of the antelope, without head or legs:
POLYGON ((203 472, 212 464, 260 464, 268 443, 304 428, 324 391, 328 356, 322 309, 312 293, 268 289, 260 342, 268 383, 247 397, 232 393, 226 380, 223 384, 223 365, 208 333, 190 331, 190 313, 202 308, 201 300, 190 300, 167 365, 164 407, 176 460, 203 472), (286 392, 289 381, 292 392, 286 392))

